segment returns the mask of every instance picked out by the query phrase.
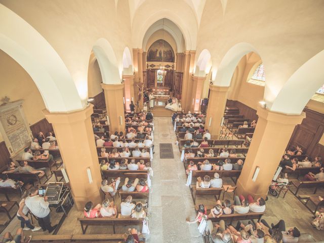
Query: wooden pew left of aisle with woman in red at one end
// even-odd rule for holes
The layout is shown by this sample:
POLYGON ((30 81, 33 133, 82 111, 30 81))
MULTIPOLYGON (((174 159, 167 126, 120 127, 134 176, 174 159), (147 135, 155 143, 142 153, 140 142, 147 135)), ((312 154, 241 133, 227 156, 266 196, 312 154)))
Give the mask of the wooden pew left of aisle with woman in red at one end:
POLYGON ((115 226, 117 225, 143 225, 143 219, 136 218, 78 218, 83 234, 86 233, 88 226, 112 226, 113 233, 115 233, 115 226))

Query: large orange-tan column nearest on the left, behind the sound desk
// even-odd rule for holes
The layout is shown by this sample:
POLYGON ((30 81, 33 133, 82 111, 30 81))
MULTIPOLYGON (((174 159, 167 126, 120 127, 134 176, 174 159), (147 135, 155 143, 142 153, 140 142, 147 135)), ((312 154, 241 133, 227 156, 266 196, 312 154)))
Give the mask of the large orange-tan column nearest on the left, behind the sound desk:
POLYGON ((93 105, 71 113, 43 112, 53 125, 77 209, 82 211, 87 201, 94 205, 101 203, 101 174, 90 117, 93 105), (92 182, 89 182, 88 168, 92 182))

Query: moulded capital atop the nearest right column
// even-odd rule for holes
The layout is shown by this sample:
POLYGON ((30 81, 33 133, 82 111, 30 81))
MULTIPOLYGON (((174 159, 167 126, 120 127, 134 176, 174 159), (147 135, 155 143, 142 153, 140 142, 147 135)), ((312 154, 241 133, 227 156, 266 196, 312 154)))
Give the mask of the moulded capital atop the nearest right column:
POLYGON ((296 124, 301 124, 303 119, 306 117, 305 112, 302 112, 300 115, 288 115, 263 109, 262 107, 258 107, 257 115, 259 118, 263 118, 274 123, 281 123, 285 125, 292 124, 294 126, 296 124))

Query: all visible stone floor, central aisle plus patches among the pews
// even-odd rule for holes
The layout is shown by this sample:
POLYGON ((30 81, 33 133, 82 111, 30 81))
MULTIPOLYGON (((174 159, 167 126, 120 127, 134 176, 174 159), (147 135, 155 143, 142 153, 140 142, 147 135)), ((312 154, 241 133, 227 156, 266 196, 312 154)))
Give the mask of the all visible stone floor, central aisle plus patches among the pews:
MULTIPOLYGON (((178 146, 175 145, 176 135, 171 124, 171 118, 155 117, 154 126, 155 154, 152 163, 154 177, 152 179, 148 208, 151 233, 147 236, 146 242, 203 242, 203 238, 199 236, 197 231, 197 225, 188 225, 185 222, 186 219, 194 219, 195 211, 190 190, 185 186, 185 170, 180 161, 178 146), (173 144, 174 159, 159 158, 159 143, 173 144)), ((51 178, 52 180, 54 178, 51 178)), ((233 181, 229 178, 224 178, 223 184, 234 185, 233 181)), ((310 194, 312 191, 305 189, 300 193, 310 194)), ((324 195, 324 190, 320 189, 316 194, 324 195)), ((226 195, 225 198, 232 200, 232 195, 226 195)), ((12 199, 19 201, 18 197, 12 199)), ((5 197, 0 195, 0 200, 5 200, 5 197)), ((207 207, 211 207, 215 204, 215 198, 213 196, 197 196, 196 204, 204 204, 207 207)), ((120 205, 120 199, 118 198, 116 205, 120 205)), ((120 209, 118 211, 120 212, 120 209)), ((12 215, 15 213, 14 209, 12 215)), ((56 213, 55 210, 51 212, 53 224, 59 221, 61 214, 56 213)), ((324 231, 316 230, 309 224, 312 216, 308 209, 291 192, 288 192, 285 198, 274 198, 269 195, 269 199, 266 202, 266 213, 263 218, 268 223, 276 223, 278 220, 284 219, 287 226, 297 226, 302 233, 309 233, 314 239, 312 241, 299 242, 324 242, 324 231)), ((58 234, 82 233, 80 224, 77 221, 78 217, 83 217, 83 212, 77 211, 75 207, 72 208, 58 234)), ((0 214, 0 220, 3 218, 6 218, 6 216, 0 214)), ((34 223, 37 225, 37 222, 34 223)), ((18 219, 14 218, 7 228, 2 231, 0 239, 6 231, 14 233, 19 228, 19 225, 18 219)), ((116 227, 116 233, 124 233, 126 231, 127 227, 116 227)), ((26 235, 30 233, 30 230, 25 231, 26 235)), ((89 227, 87 233, 112 233, 112 229, 105 226, 89 227)), ((44 234, 44 232, 41 230, 32 232, 32 234, 44 234)))

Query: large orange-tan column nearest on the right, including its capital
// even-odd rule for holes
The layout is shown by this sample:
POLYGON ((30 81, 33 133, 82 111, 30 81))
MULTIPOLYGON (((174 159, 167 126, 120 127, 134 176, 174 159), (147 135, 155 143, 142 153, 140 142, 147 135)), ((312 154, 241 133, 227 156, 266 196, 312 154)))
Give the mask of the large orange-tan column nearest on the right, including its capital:
POLYGON ((258 124, 236 183, 235 194, 251 194, 265 198, 295 126, 301 124, 306 115, 304 112, 301 115, 286 115, 261 107, 258 108, 257 114, 258 124), (257 167, 260 168, 259 175, 256 181, 252 181, 257 167))

